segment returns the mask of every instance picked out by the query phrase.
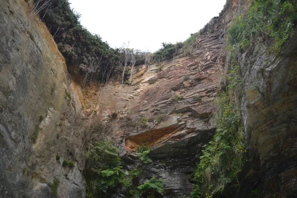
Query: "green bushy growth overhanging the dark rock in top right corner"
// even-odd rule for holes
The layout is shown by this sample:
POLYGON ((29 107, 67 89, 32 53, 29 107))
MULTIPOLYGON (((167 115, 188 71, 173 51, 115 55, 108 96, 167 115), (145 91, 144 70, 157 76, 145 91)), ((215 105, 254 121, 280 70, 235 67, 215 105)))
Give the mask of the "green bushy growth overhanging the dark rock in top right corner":
POLYGON ((271 51, 278 53, 293 33, 296 22, 296 0, 254 0, 249 11, 234 20, 228 40, 232 46, 244 49, 272 38, 275 43, 271 51))

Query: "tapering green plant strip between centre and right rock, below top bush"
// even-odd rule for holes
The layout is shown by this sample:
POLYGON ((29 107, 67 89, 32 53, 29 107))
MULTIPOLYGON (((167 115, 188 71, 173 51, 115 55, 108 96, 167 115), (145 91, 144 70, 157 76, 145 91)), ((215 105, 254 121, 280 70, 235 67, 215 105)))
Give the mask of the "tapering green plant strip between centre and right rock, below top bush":
MULTIPOLYGON (((228 48, 227 59, 227 87, 214 100, 216 105, 215 125, 216 134, 202 150, 200 161, 194 173, 198 182, 201 196, 211 198, 221 193, 227 185, 238 188, 237 175, 244 165, 245 145, 243 139, 243 125, 238 107, 242 96, 243 82, 240 76, 237 48, 228 48)), ((197 98, 199 99, 199 98, 197 98)))

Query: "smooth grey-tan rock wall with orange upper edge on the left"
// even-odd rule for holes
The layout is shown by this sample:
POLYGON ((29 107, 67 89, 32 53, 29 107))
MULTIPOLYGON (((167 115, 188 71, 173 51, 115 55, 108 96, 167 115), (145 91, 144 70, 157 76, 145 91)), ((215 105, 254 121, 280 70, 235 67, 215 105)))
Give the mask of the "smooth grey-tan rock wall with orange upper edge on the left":
POLYGON ((49 186, 54 178, 60 182, 59 197, 84 195, 78 167, 62 168, 55 158, 57 153, 60 161, 70 158, 64 131, 81 106, 79 92, 69 86, 64 58, 47 27, 32 15, 30 4, 1 0, 1 198, 52 197, 49 186), (39 135, 33 143, 36 130, 39 135))

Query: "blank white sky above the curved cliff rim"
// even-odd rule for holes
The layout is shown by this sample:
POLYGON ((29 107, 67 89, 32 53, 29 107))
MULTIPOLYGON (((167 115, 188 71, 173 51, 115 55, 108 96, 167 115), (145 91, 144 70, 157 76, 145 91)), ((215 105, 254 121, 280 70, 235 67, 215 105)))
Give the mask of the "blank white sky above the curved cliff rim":
POLYGON ((81 24, 110 47, 155 51, 161 43, 185 41, 212 17, 226 0, 69 0, 81 24))

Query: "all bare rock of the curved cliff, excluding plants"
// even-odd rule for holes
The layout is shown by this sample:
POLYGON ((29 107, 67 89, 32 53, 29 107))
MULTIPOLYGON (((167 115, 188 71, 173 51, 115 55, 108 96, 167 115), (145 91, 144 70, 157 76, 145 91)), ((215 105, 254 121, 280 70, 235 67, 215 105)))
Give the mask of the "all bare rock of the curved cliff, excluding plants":
MULTIPOLYGON (((200 30, 191 55, 179 49, 139 66, 131 85, 113 78, 81 88, 30 2, 0 0, 0 198, 86 197, 79 118, 111 127, 105 135, 126 170, 136 168, 137 148, 151 148, 153 162, 143 165, 139 184, 156 177, 164 182, 161 197, 190 197, 196 163, 216 131, 213 100, 228 61, 227 30, 250 3, 227 0, 200 30)), ((216 197, 297 196, 296 28, 277 55, 267 43, 258 41, 239 57, 246 162, 239 187, 216 197)), ((115 188, 110 197, 127 195, 115 188)))

